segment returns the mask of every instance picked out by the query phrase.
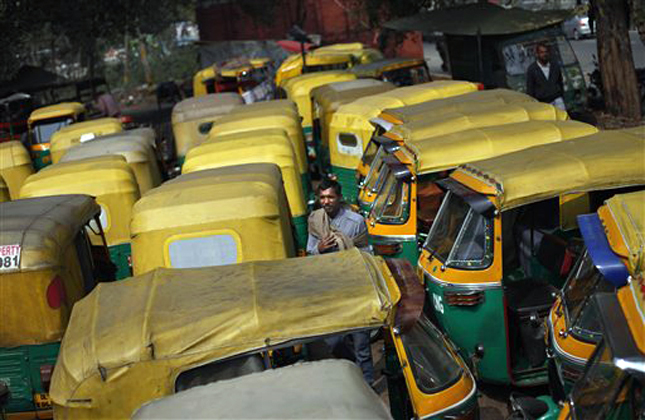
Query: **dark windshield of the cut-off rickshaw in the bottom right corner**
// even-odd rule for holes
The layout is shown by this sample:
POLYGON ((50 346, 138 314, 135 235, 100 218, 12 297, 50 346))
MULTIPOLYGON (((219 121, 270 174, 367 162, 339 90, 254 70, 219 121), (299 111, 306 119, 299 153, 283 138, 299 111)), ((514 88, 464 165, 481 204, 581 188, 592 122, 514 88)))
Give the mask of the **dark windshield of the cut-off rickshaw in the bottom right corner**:
POLYGON ((629 378, 612 363, 612 358, 611 348, 601 340, 571 392, 575 420, 607 419, 630 399, 625 394, 629 378))

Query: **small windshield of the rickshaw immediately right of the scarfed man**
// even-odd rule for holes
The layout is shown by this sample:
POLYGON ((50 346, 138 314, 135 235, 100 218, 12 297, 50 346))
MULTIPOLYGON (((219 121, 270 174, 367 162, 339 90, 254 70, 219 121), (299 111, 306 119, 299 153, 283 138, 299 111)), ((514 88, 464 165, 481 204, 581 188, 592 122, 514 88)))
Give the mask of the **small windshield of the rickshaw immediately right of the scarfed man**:
POLYGON ((374 202, 374 215, 379 223, 402 224, 408 219, 410 183, 397 179, 387 171, 387 179, 374 202))

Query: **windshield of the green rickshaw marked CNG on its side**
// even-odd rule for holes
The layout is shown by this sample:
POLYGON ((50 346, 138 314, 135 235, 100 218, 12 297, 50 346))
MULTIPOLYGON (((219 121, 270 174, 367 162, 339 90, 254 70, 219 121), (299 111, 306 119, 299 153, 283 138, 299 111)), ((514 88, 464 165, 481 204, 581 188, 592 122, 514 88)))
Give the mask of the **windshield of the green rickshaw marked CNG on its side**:
POLYGON ((448 192, 424 245, 446 266, 481 269, 492 262, 493 223, 448 192))

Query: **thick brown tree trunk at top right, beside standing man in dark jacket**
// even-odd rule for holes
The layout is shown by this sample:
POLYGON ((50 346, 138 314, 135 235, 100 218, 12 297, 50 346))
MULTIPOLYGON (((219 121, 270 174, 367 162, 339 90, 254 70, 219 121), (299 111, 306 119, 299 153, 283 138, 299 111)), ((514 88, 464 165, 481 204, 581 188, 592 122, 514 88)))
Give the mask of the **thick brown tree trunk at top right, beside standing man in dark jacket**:
POLYGON ((598 64, 607 111, 640 119, 634 57, 627 28, 627 0, 595 0, 598 64))

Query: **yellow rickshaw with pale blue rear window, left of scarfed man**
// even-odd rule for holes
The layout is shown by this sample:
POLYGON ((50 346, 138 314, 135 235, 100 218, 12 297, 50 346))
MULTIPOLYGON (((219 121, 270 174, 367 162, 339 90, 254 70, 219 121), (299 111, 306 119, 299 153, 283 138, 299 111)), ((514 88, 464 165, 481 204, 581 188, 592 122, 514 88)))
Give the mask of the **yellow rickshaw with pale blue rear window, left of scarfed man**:
POLYGON ((180 175, 137 201, 130 229, 135 275, 296 255, 280 168, 267 163, 180 175))

